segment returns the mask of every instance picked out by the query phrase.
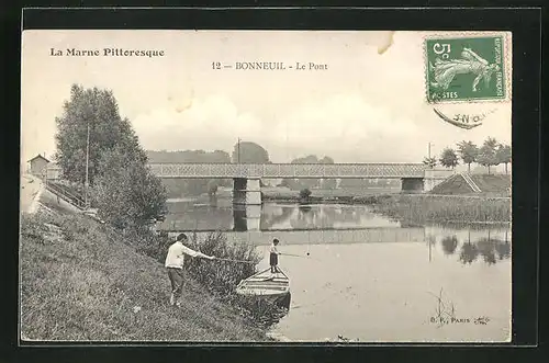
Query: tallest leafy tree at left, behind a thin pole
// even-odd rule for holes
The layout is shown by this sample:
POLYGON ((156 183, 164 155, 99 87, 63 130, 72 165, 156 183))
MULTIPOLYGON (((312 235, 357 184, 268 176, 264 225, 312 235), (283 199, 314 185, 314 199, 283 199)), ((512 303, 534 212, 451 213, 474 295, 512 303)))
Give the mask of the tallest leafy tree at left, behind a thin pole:
POLYGON ((83 89, 72 84, 70 100, 63 105, 63 115, 56 117, 55 159, 61 167, 63 178, 83 183, 86 180, 86 150, 89 127, 89 181, 93 184, 99 172, 99 160, 115 146, 127 154, 146 160, 138 139, 127 118, 122 118, 112 91, 98 88, 83 89))

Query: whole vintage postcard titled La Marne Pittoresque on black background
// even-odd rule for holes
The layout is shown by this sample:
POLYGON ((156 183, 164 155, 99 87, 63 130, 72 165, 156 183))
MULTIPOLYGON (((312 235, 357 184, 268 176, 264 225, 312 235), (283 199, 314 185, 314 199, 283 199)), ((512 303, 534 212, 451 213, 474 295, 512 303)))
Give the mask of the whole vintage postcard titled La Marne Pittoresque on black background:
POLYGON ((22 37, 23 343, 511 341, 511 33, 22 37))

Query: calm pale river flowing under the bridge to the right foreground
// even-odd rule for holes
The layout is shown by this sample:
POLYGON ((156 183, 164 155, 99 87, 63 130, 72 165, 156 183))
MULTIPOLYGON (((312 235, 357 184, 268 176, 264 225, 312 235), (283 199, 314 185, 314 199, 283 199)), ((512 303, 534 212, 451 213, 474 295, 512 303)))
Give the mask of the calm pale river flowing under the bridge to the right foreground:
POLYGON ((259 268, 273 237, 281 252, 302 256, 280 258, 292 299, 272 332, 291 341, 509 340, 509 226, 403 226, 337 204, 266 203, 259 230, 243 231, 238 218, 231 207, 181 202, 164 226, 253 240, 265 256, 259 268))

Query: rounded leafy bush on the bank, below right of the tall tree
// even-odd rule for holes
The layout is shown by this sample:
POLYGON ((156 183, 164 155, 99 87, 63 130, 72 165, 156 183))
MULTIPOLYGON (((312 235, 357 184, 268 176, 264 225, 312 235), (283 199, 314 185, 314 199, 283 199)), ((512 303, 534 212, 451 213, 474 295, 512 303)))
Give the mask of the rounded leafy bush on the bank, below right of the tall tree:
POLYGON ((103 220, 138 231, 164 213, 166 190, 142 159, 116 147, 99 160, 91 197, 103 220))

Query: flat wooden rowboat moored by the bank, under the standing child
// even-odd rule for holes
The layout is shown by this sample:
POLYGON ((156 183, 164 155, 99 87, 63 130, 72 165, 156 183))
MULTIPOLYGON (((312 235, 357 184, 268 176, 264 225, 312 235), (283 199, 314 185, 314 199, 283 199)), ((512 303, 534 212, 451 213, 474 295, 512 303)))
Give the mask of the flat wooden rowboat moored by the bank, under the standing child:
POLYGON ((266 300, 287 309, 290 308, 290 279, 280 269, 272 273, 270 268, 240 281, 236 293, 256 300, 266 300))

